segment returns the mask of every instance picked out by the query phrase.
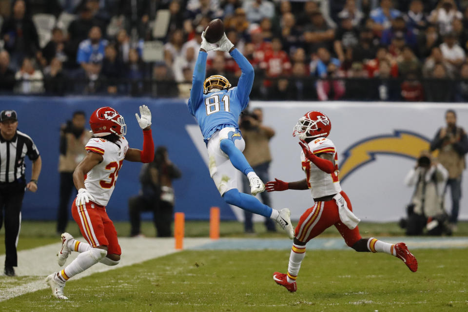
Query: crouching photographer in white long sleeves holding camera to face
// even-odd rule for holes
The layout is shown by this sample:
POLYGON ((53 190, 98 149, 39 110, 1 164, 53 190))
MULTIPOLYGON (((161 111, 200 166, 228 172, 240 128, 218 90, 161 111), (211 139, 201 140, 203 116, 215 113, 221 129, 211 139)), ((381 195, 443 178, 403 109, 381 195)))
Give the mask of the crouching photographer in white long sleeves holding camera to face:
POLYGON ((428 151, 421 152, 416 166, 405 178, 407 186, 415 187, 411 203, 407 207, 408 219, 400 223, 406 228, 407 235, 421 235, 424 229, 429 235, 451 234, 446 226, 448 215, 444 209, 447 178, 447 169, 432 161, 428 151))

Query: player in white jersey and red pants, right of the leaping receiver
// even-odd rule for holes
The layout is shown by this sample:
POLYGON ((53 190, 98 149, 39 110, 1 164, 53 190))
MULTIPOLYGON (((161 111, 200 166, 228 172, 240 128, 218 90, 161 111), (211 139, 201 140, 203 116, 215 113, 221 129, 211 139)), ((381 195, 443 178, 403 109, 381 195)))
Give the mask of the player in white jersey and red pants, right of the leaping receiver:
POLYGON ((359 234, 357 224, 360 220, 352 213, 350 199, 341 190, 337 152, 328 138, 330 130, 330 119, 321 112, 311 111, 301 117, 293 136, 300 139, 301 165, 306 178, 289 183, 275 179, 266 184, 268 192, 310 189, 315 202, 301 216, 295 229, 288 273, 273 274, 274 281, 290 292, 297 290, 296 277, 307 242, 332 225, 355 251, 391 254, 403 260, 412 272, 418 269, 418 262, 405 243, 389 244, 373 237, 362 238, 359 234))

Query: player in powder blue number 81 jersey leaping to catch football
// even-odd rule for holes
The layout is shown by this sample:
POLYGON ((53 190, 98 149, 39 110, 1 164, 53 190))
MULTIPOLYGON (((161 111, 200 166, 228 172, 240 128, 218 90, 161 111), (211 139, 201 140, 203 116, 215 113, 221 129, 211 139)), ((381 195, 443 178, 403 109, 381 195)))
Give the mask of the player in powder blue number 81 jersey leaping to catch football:
POLYGON ((205 39, 205 32, 201 37, 202 42, 195 63, 188 108, 198 121, 207 144, 210 176, 228 204, 272 218, 292 239, 290 210, 288 208, 279 211, 272 209, 252 196, 263 192, 265 185, 242 154, 245 141, 241 136, 237 121, 240 113, 249 103, 249 94, 254 82, 254 68, 234 48, 234 44, 226 37, 226 34, 216 42, 219 48, 208 43, 205 39), (207 52, 211 50, 229 52, 239 65, 242 74, 237 87, 232 87, 228 79, 223 76, 215 75, 205 79, 207 52), (252 195, 240 193, 237 190, 236 169, 249 179, 252 195))

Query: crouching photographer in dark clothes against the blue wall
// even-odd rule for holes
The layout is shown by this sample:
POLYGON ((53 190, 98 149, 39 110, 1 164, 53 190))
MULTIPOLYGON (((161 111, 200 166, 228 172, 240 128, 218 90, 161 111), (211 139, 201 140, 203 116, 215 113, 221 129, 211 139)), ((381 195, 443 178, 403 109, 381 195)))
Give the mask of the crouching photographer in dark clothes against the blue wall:
POLYGON ((158 146, 154 161, 141 168, 139 195, 130 197, 128 201, 131 236, 141 235, 140 213, 144 211, 153 212, 158 237, 171 236, 174 208, 172 180, 180 176, 180 170, 169 160, 166 147, 158 146))

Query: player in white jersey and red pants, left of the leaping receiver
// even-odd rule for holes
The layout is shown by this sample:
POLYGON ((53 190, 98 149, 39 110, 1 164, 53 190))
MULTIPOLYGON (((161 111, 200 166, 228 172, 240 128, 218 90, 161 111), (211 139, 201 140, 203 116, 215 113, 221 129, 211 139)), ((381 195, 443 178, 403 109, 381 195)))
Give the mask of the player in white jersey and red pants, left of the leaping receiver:
POLYGON ((118 171, 124 160, 148 163, 155 155, 151 134, 151 112, 146 105, 140 106, 137 121, 143 130, 143 150, 128 147, 125 139, 127 126, 121 115, 112 107, 101 107, 89 119, 94 137, 86 144, 88 155, 78 164, 73 181, 78 190, 72 204, 72 215, 87 243, 80 242, 68 233, 63 233, 62 246, 57 254, 63 266, 72 252, 78 256, 65 269, 52 273, 46 278, 52 294, 58 299, 63 295, 66 281, 100 262, 117 265, 120 260, 120 246, 117 232, 106 212, 106 205, 114 191, 118 171))

